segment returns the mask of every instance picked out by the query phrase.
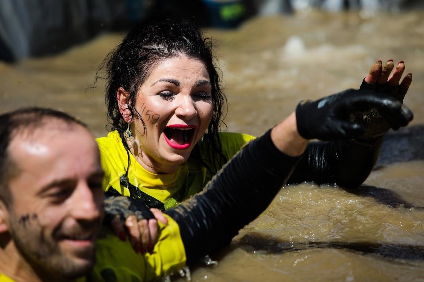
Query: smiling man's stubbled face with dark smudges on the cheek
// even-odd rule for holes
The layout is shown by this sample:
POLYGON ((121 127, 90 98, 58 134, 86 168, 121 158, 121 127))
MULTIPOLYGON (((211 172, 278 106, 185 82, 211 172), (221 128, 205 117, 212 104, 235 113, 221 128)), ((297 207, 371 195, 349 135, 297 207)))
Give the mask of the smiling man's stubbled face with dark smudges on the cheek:
POLYGON ((73 277, 90 271, 103 205, 93 136, 79 125, 49 122, 29 136, 14 137, 9 150, 19 168, 9 183, 8 209, 18 252, 40 273, 73 277))

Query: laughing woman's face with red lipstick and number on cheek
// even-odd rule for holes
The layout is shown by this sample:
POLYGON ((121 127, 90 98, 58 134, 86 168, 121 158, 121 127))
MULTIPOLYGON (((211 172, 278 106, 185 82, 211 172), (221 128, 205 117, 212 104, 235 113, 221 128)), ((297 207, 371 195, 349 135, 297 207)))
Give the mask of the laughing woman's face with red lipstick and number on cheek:
MULTIPOLYGON (((184 55, 160 61, 138 90, 129 146, 148 171, 172 173, 185 162, 212 119, 211 83, 203 62, 184 55)), ((119 97, 125 94, 119 94, 119 97)), ((126 99, 126 98, 125 98, 126 99)), ((123 104, 120 100, 121 105, 123 104)), ((124 115, 125 116, 125 115, 124 115)))

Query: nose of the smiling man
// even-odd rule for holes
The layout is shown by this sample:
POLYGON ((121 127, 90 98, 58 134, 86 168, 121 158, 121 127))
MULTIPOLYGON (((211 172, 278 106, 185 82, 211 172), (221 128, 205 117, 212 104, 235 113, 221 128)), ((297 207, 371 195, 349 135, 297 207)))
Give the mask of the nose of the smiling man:
POLYGON ((93 221, 102 215, 103 190, 91 189, 87 183, 78 184, 72 199, 72 216, 76 220, 93 221))

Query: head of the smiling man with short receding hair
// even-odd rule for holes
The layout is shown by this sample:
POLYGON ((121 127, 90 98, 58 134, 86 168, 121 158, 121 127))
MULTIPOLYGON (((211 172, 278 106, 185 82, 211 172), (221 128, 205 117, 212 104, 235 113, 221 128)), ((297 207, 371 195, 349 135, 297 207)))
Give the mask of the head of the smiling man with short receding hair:
POLYGON ((1 272, 16 281, 89 272, 103 205, 93 136, 48 110, 3 115, 0 124, 1 272))

